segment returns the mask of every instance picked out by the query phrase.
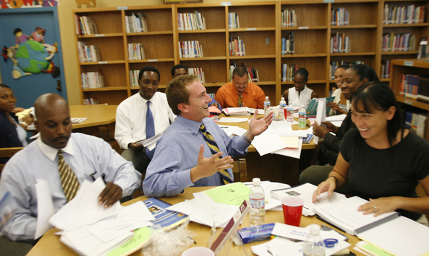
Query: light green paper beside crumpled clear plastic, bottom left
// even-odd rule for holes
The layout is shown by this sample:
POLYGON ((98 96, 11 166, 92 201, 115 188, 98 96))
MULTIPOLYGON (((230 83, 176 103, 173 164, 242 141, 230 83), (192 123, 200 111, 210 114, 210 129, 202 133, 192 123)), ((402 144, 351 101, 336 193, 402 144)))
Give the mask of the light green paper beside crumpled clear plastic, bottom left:
POLYGON ((150 228, 143 227, 134 230, 134 236, 129 241, 118 248, 111 250, 107 253, 107 256, 122 256, 134 253, 136 250, 143 247, 143 245, 149 240, 150 228))

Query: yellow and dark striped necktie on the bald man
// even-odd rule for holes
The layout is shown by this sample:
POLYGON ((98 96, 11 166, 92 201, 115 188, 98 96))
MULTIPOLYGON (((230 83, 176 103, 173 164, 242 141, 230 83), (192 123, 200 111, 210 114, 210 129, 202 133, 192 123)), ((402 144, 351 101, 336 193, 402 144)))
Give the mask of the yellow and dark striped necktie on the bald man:
POLYGON ((60 172, 61 185, 67 201, 71 201, 76 196, 80 185, 71 167, 67 165, 62 156, 62 150, 58 150, 58 171, 60 172))

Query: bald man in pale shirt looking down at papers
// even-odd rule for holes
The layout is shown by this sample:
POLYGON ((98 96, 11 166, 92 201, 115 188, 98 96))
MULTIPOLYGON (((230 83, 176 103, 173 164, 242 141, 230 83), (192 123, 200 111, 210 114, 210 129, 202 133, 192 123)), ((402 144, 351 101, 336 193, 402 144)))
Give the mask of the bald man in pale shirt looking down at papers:
POLYGON ((60 155, 75 175, 70 179, 77 179, 79 184, 84 180, 94 181, 100 176, 104 179, 106 188, 99 196, 99 204, 104 204, 104 208, 122 196, 132 194, 141 181, 141 174, 132 163, 104 140, 71 133, 69 105, 60 95, 51 93, 37 98, 35 113, 35 127, 40 138, 10 158, 1 174, 0 198, 9 191, 17 211, 0 228, 0 235, 7 235, 14 241, 35 239, 36 179, 48 181, 55 212, 73 197, 66 199, 64 192, 67 189, 62 188, 60 175, 64 169, 59 170, 60 155))

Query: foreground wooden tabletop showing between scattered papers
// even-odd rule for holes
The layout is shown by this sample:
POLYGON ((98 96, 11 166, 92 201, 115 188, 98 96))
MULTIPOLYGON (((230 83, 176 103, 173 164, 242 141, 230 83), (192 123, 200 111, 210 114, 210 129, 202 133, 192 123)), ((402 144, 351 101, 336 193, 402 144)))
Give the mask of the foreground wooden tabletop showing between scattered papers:
MULTIPOLYGON (((180 202, 185 201, 187 199, 193 199, 194 196, 192 195, 192 193, 200 192, 200 191, 208 190, 208 189, 210 189, 210 187, 187 188, 187 189, 185 189, 185 192, 183 194, 179 194, 177 196, 170 197, 170 198, 163 198, 162 200, 166 201, 167 203, 171 203, 171 204, 180 203, 180 202)), ((140 196, 137 199, 133 199, 131 201, 128 201, 127 203, 124 203, 123 205, 129 205, 129 204, 134 203, 136 201, 145 201, 146 199, 147 199, 147 197, 140 196)), ((265 221, 266 221, 266 223, 276 223, 276 222, 284 223, 283 212, 268 210, 266 212, 265 221)), ((301 227, 306 227, 311 223, 317 223, 320 225, 324 222, 320 221, 316 217, 304 217, 304 216, 302 216, 301 225, 300 225, 301 227)), ((327 223, 324 223, 324 224, 327 226, 330 226, 327 223)), ((249 217, 247 216, 247 217, 244 217, 243 222, 242 222, 241 226, 239 226, 239 228, 246 228, 248 226, 249 226, 249 217)), ((334 228, 334 227, 331 227, 331 228, 334 228)), ((336 229, 336 228, 334 228, 334 229, 336 229)), ((199 223, 190 222, 190 224, 188 226, 188 230, 193 230, 194 232, 197 232, 197 237, 194 237, 197 244, 193 244, 192 246, 206 246, 206 242, 207 242, 208 236, 210 234, 210 227, 201 225, 199 223)), ((219 235, 221 230, 222 230, 221 228, 217 229, 216 237, 219 235)), ((58 230, 56 228, 53 228, 53 229, 49 230, 48 232, 46 232, 46 234, 42 237, 42 239, 40 239, 40 241, 33 247, 33 249, 30 250, 30 253, 28 253, 27 256, 77 255, 69 247, 62 244, 62 242, 60 241, 60 236, 55 235, 55 232, 57 232, 57 231, 58 230)), ((339 231, 339 230, 337 230, 337 231, 339 231)), ((339 231, 339 232, 341 232, 341 231, 339 231)), ((345 234, 344 232, 341 232, 341 233, 345 234)), ((360 239, 358 239, 357 237, 354 237, 352 235, 349 235, 349 234, 345 234, 345 235, 347 237, 349 237, 349 241, 348 241, 349 244, 352 244, 352 246, 349 247, 349 250, 352 250, 354 253, 356 253, 356 255, 362 255, 362 254, 360 254, 360 253, 358 253, 352 249, 354 247, 354 245, 358 241, 360 241, 360 239)), ((256 243, 245 244, 244 249, 246 250, 246 253, 248 255, 254 255, 252 253, 250 246, 262 244, 264 242, 265 241, 259 241, 256 243)), ((138 250, 136 253, 133 253, 132 255, 133 256, 141 255, 140 250, 138 250)), ((230 248, 229 255, 235 256, 235 255, 245 255, 245 254, 244 254, 243 250, 241 249, 241 247, 238 247, 238 246, 235 246, 234 244, 232 244, 232 246, 230 248)))

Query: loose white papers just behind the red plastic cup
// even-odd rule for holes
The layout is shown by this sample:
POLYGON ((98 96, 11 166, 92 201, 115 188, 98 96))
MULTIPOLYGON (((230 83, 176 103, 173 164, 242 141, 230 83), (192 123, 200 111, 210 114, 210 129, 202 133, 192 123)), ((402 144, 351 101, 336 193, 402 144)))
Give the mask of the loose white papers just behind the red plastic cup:
POLYGON ((340 194, 337 192, 332 193, 331 196, 328 195, 327 192, 320 194, 316 203, 313 203, 312 197, 313 192, 317 189, 313 184, 305 183, 293 188, 286 188, 280 190, 271 190, 271 196, 276 199, 281 200, 284 196, 299 196, 304 199, 304 207, 302 208, 302 215, 304 216, 313 216, 316 214, 313 211, 313 208, 318 205, 330 205, 336 201, 343 201, 346 199, 344 194, 340 194))

